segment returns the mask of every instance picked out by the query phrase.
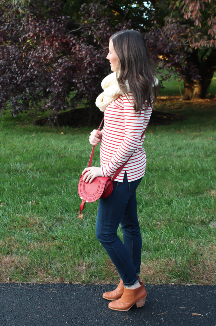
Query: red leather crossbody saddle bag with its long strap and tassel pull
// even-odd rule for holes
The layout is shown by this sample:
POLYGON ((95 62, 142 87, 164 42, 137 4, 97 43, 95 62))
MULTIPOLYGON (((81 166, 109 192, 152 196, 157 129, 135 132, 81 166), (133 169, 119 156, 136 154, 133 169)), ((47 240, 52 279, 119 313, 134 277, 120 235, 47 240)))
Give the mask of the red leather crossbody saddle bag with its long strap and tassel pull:
MULTIPOLYGON (((98 130, 100 130, 100 127, 102 125, 104 121, 101 121, 101 124, 98 128, 98 130)), ((148 127, 148 125, 147 125, 148 127)), ((146 127, 146 129, 147 129, 146 127)), ((142 133, 142 136, 140 138, 140 141, 143 137, 143 135, 146 132, 145 131, 142 133)), ((94 154, 94 148, 95 145, 93 145, 92 148, 92 153, 89 159, 89 164, 88 164, 88 168, 91 167, 92 165, 92 158, 93 158, 93 154, 94 154)), ((131 156, 134 153, 131 154, 131 156)), ((98 200, 99 198, 106 198, 109 195, 111 195, 112 189, 113 189, 113 181, 115 180, 115 178, 117 177, 117 175, 122 171, 122 169, 124 168, 124 166, 127 164, 127 162, 129 161, 129 159, 131 158, 131 156, 127 159, 127 161, 120 167, 118 168, 118 170, 115 172, 115 174, 113 175, 113 177, 96 177, 91 183, 85 183, 82 181, 83 179, 83 174, 81 174, 80 178, 79 178, 79 184, 78 184, 78 193, 79 193, 79 197, 81 198, 82 202, 80 205, 80 209, 79 209, 79 214, 81 213, 81 211, 84 209, 85 207, 85 203, 86 202, 93 202, 98 200)))

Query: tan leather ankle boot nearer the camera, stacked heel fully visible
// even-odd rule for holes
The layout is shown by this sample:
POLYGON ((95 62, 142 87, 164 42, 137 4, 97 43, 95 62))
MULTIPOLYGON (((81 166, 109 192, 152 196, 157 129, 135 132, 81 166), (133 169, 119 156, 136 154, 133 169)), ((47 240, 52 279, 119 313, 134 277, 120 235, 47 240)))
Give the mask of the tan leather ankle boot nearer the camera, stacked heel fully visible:
POLYGON ((128 311, 134 304, 137 304, 137 308, 144 306, 147 292, 143 282, 139 281, 139 284, 141 286, 137 289, 124 288, 122 297, 116 301, 110 302, 109 308, 112 310, 128 311))

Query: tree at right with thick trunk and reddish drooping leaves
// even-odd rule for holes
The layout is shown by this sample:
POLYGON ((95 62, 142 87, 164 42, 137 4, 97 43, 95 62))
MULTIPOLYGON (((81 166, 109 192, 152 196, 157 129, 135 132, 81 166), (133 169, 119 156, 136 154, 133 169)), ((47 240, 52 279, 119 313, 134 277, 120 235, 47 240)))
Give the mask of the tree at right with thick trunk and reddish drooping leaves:
MULTIPOLYGON (((216 1, 154 1, 155 20, 164 13, 167 30, 175 29, 172 36, 184 60, 184 99, 204 98, 216 68, 216 1), (164 8, 166 11, 164 12, 164 8), (191 67, 197 67, 197 76, 191 77, 191 67)), ((163 29, 157 23, 159 29, 163 29)), ((164 56, 167 60, 167 56, 164 56)))

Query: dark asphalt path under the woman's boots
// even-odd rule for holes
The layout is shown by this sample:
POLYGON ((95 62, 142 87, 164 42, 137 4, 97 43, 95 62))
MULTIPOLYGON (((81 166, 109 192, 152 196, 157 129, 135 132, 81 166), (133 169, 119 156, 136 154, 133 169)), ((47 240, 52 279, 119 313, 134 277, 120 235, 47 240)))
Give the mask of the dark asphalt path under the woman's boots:
POLYGON ((216 326, 216 286, 146 285, 144 307, 110 310, 116 285, 0 283, 1 326, 216 326))

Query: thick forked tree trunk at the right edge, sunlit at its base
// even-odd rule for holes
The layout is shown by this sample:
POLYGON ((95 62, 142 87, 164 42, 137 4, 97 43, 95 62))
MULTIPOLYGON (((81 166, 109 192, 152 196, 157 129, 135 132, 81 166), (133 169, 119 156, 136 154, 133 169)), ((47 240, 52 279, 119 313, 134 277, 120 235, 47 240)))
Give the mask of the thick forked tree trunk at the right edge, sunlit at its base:
POLYGON ((198 57, 198 50, 194 50, 188 57, 187 63, 195 64, 199 69, 201 80, 191 80, 190 69, 186 69, 186 76, 183 77, 185 94, 182 96, 183 100, 195 100, 205 98, 206 92, 210 86, 214 71, 216 68, 216 51, 212 49, 205 59, 204 55, 198 57))

